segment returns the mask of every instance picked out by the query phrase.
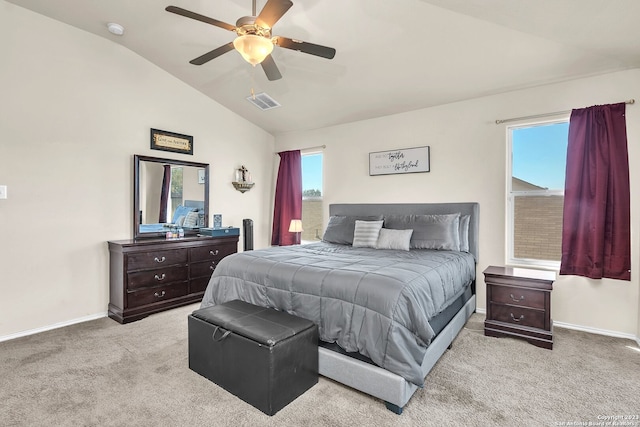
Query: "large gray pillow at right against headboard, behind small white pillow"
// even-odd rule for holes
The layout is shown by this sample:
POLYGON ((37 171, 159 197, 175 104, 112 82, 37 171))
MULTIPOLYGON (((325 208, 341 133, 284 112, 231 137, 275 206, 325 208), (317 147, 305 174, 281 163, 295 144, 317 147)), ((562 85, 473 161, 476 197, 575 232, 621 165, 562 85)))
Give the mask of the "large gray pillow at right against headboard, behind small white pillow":
POLYGON ((460 214, 447 215, 389 215, 386 228, 412 229, 412 249, 460 250, 460 214))

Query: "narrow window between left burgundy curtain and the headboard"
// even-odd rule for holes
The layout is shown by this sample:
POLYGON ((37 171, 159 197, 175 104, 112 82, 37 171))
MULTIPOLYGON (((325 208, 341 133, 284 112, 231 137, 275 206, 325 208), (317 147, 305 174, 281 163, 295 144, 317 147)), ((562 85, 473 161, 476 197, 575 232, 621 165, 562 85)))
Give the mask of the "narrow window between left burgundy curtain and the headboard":
POLYGON ((302 232, 303 242, 322 239, 322 153, 302 154, 302 232))

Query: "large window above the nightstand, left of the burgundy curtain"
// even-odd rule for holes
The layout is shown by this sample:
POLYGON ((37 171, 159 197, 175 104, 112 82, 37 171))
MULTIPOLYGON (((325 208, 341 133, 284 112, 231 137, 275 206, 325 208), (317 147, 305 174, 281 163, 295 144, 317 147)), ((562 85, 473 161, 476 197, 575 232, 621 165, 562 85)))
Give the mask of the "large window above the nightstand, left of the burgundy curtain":
POLYGON ((558 267, 569 120, 507 128, 507 263, 558 267))

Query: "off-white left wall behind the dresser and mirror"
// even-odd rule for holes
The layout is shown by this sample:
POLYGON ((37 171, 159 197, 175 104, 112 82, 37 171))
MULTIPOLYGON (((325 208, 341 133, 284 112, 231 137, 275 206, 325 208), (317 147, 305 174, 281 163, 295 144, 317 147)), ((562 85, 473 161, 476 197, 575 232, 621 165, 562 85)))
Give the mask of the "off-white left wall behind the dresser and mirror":
POLYGON ((268 244, 273 136, 120 45, 1 0, 0 53, 0 338, 106 314, 134 154, 210 163, 211 212, 253 218, 268 244), (193 156, 151 150, 150 128, 192 135, 193 156))

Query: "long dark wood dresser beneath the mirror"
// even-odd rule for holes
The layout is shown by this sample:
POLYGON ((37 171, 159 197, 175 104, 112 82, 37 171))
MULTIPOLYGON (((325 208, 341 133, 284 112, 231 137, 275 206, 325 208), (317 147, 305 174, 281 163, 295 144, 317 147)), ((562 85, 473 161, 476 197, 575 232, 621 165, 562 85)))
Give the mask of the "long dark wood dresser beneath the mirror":
POLYGON ((128 323, 198 302, 238 236, 117 240, 109 244, 109 317, 128 323))

